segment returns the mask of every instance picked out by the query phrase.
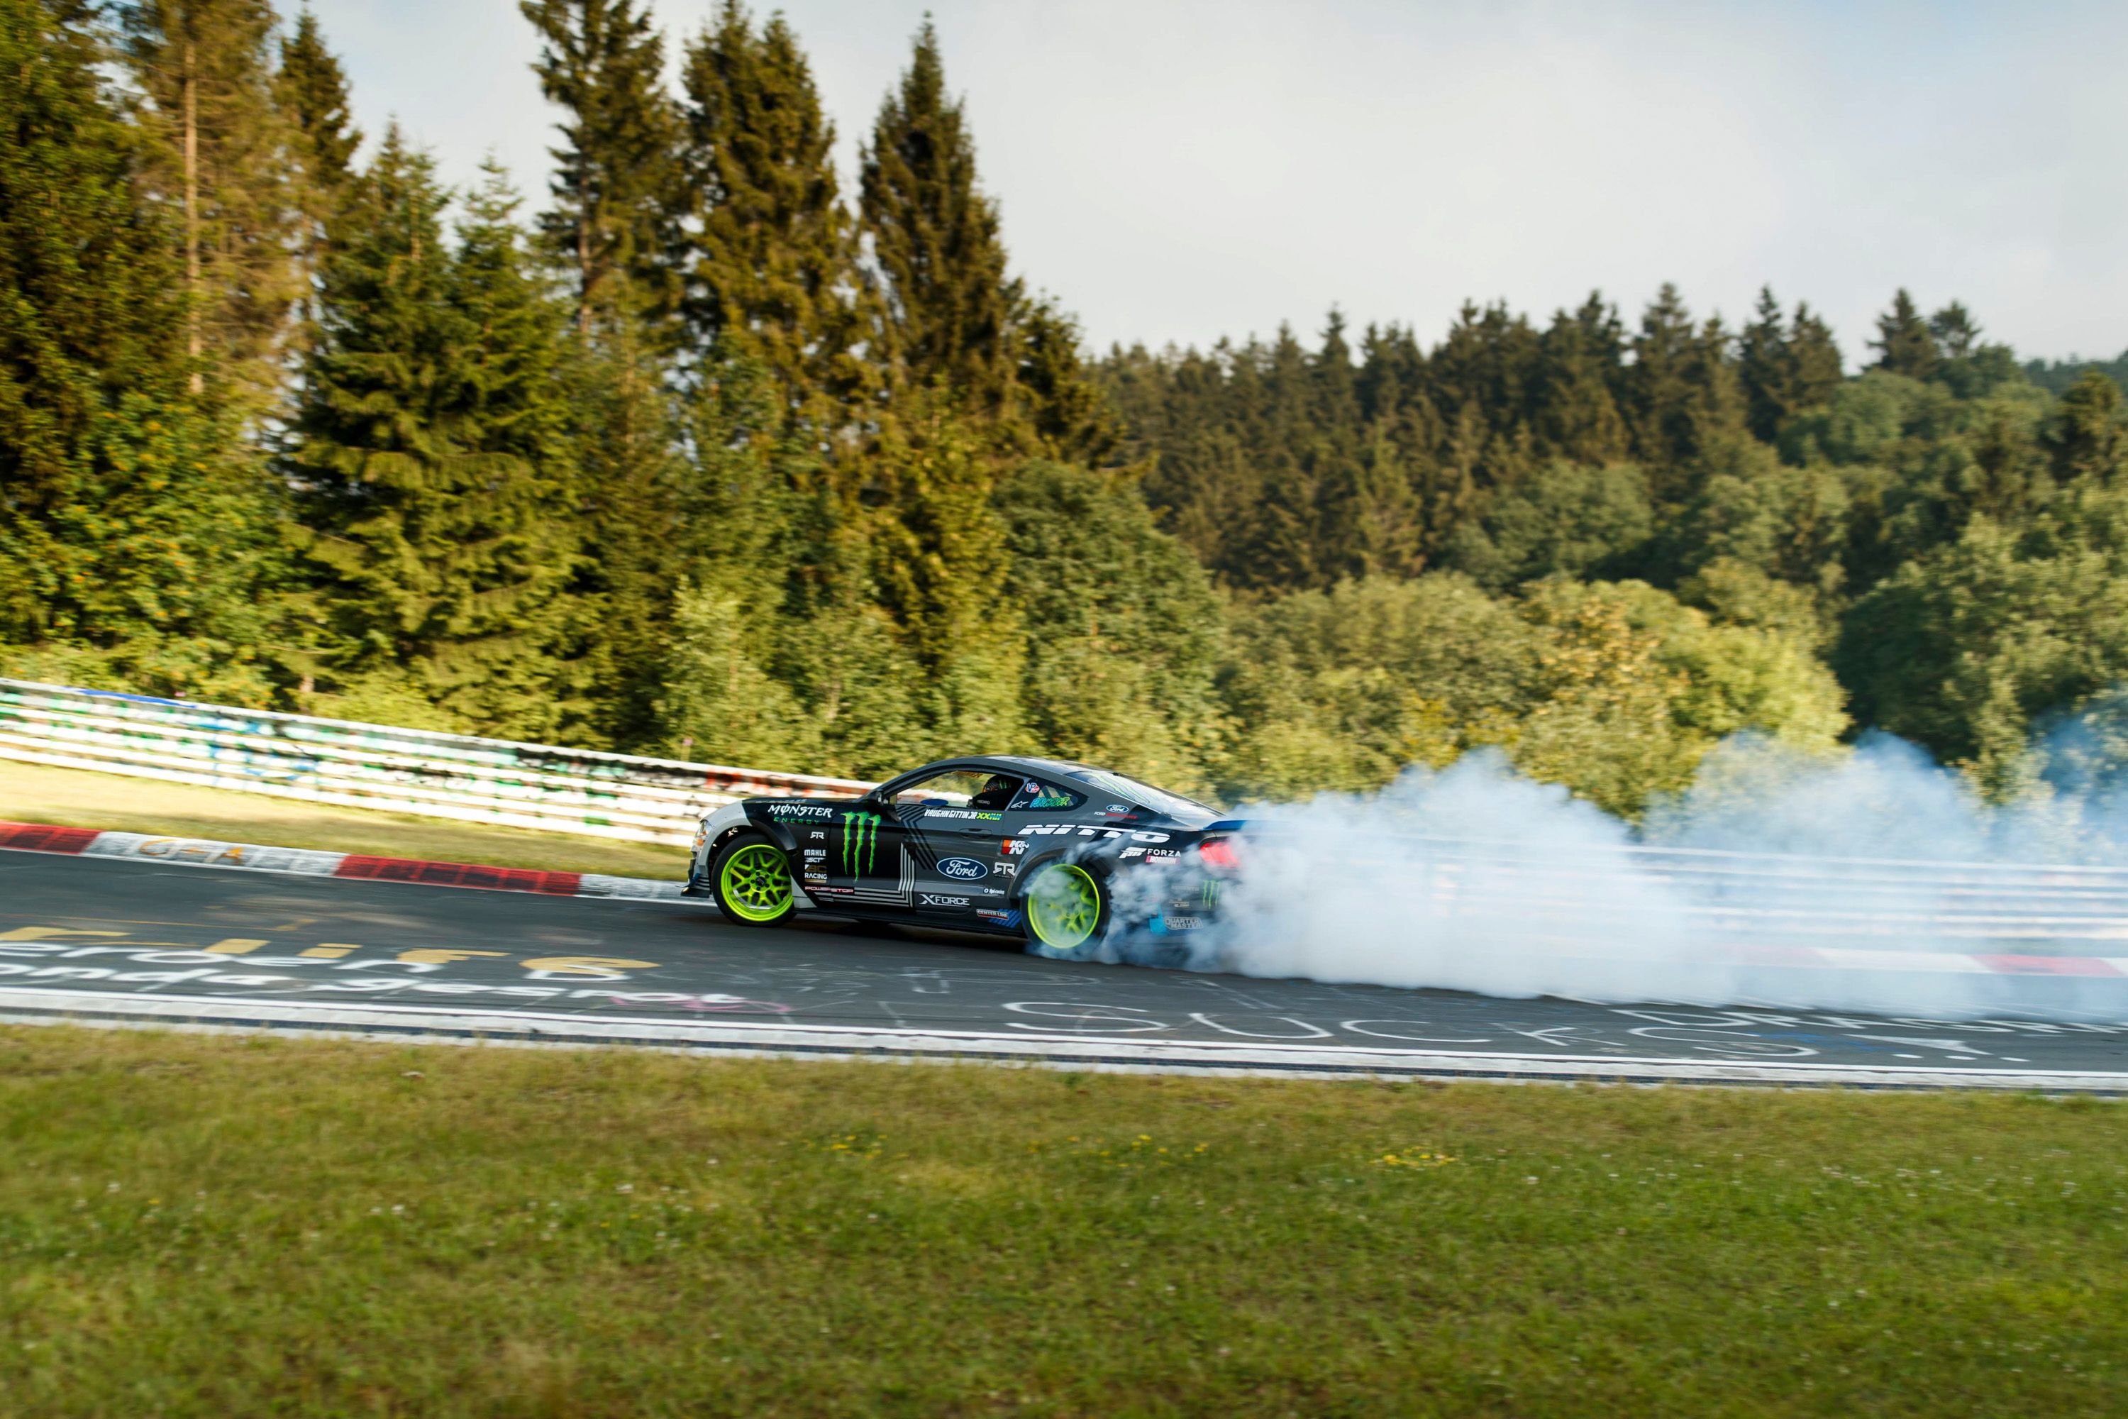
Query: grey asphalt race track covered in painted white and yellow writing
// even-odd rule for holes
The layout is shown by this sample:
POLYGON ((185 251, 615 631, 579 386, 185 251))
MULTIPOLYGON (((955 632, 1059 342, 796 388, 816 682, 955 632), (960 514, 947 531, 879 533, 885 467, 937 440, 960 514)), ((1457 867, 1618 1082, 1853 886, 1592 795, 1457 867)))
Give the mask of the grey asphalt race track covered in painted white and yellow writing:
POLYGON ((2128 1094, 2111 1019, 1496 1000, 1045 962, 834 921, 0 853, 0 1019, 770 1055, 2128 1094))

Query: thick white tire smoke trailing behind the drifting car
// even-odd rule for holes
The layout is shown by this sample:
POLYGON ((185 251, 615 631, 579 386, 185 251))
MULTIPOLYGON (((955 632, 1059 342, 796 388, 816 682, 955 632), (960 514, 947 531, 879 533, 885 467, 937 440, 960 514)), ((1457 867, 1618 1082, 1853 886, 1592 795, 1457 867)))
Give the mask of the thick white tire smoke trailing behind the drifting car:
MULTIPOLYGON (((1713 753, 1643 830, 1498 753, 1249 811, 1194 968, 1605 1002, 2128 1019, 2113 802, 1983 804, 1911 745, 1713 753), (2077 957, 2028 976, 1994 955, 2077 957)), ((2022 966, 2019 966, 2022 970, 2022 966)))

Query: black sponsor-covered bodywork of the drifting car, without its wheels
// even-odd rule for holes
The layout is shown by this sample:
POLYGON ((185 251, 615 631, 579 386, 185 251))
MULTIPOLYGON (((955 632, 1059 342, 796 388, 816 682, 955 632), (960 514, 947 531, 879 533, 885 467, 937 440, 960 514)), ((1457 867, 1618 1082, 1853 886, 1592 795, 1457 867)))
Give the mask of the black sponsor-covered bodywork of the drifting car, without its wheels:
MULTIPOLYGON (((789 859, 794 902, 832 915, 1017 936, 1019 883, 1064 859, 1111 883, 1130 925, 1207 925, 1219 868, 1198 857, 1236 825, 1121 774, 1032 757, 943 759, 864 798, 749 798, 704 815, 687 896, 711 896, 709 864, 741 832, 789 859)), ((1228 857, 1230 862, 1230 857, 1228 857)))

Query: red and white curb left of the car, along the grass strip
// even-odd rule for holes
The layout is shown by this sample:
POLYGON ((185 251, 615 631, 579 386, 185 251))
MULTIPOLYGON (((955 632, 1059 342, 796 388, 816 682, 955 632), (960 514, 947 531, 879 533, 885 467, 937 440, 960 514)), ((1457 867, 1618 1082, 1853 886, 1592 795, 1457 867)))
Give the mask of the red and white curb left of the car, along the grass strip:
POLYGON ((651 877, 489 868, 475 862, 321 853, 306 847, 262 847, 257 842, 215 842, 213 838, 155 838, 143 832, 98 832, 94 828, 51 828, 47 823, 0 823, 0 849, 66 853, 70 857, 123 857, 132 862, 238 872, 289 872, 296 877, 419 883, 426 887, 534 891, 538 896, 562 898, 683 900, 679 894, 681 883, 651 877))

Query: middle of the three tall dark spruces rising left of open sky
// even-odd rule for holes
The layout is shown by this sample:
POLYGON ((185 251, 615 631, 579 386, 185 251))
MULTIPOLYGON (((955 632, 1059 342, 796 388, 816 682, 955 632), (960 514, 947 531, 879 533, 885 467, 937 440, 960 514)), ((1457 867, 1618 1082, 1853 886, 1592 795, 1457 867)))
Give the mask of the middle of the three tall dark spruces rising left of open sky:
POLYGON ((824 436, 862 417, 877 311, 834 177, 834 126, 781 15, 755 32, 738 0, 687 45, 681 311, 696 351, 766 368, 792 417, 824 436))

